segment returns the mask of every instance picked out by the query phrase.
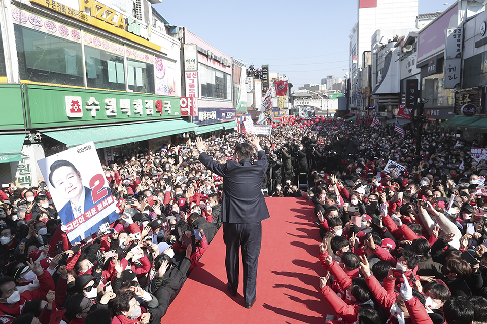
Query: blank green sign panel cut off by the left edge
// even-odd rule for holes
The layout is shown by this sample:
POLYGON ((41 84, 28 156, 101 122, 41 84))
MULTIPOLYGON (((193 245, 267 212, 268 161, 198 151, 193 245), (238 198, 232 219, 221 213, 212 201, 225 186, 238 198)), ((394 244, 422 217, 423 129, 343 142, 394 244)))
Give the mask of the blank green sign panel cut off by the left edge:
POLYGON ((2 130, 24 129, 22 109, 22 92, 20 85, 0 84, 0 113, 2 113, 2 130))

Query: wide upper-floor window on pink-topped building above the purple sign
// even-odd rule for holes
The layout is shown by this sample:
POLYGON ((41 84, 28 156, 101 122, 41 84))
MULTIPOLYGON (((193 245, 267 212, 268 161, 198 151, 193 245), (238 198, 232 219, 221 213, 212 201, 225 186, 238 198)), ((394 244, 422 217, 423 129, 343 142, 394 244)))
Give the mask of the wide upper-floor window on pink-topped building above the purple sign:
POLYGON ((232 99, 231 76, 209 66, 198 64, 201 97, 232 99))

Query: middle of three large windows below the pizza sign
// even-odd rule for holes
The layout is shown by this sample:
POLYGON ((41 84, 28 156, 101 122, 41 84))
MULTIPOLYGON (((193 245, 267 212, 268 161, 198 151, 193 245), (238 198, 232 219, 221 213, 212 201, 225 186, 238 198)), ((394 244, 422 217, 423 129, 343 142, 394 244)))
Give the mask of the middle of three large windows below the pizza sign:
POLYGON ((125 90, 123 56, 85 46, 85 60, 89 88, 125 90))

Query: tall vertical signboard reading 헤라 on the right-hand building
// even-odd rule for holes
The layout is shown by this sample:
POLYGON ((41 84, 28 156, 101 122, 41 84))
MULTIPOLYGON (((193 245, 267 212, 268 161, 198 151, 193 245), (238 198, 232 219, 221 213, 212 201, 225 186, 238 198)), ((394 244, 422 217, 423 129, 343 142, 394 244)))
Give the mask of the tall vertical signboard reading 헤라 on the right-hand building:
POLYGON ((460 87, 462 64, 462 27, 446 29, 445 47, 445 89, 460 87))

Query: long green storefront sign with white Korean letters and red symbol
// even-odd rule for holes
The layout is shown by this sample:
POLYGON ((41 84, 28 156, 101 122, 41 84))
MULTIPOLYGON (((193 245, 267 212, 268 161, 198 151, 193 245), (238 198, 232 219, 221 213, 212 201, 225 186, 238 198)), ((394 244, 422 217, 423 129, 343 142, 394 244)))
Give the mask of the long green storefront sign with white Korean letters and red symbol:
POLYGON ((155 121, 181 116, 179 97, 41 85, 24 87, 27 128, 155 121))

